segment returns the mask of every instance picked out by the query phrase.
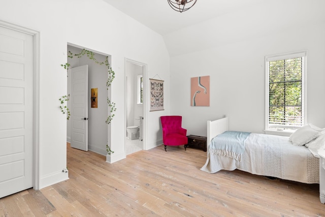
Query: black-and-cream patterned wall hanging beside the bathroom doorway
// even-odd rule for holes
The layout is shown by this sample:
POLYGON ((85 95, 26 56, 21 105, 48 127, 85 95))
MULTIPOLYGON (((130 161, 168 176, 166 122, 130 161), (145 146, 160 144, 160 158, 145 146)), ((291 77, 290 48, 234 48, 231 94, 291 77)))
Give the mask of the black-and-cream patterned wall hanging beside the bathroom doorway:
POLYGON ((164 110, 164 81, 150 80, 150 111, 164 110))

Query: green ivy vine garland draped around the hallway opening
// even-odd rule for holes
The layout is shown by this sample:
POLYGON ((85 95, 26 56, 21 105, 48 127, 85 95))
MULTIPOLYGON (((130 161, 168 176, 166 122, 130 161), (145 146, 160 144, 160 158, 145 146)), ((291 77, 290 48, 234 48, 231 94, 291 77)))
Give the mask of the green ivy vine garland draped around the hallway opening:
MULTIPOLYGON (((82 56, 84 55, 87 55, 89 59, 93 60, 96 64, 99 64, 99 65, 105 65, 107 67, 107 72, 108 72, 108 79, 106 81, 106 86, 107 86, 107 89, 108 87, 112 84, 114 78, 115 78, 115 72, 112 70, 112 68, 110 67, 110 64, 108 62, 108 56, 106 56, 106 59, 105 59, 105 62, 100 62, 98 61, 94 56, 95 54, 92 52, 92 51, 89 51, 89 50, 86 50, 86 49, 82 49, 82 51, 78 54, 74 54, 72 53, 70 50, 68 51, 68 57, 69 58, 73 58, 74 56, 78 57, 78 58, 81 58, 82 56)), ((69 70, 70 68, 70 64, 69 63, 66 63, 66 64, 61 64, 61 67, 63 67, 64 69, 66 70, 69 70)), ((67 102, 69 101, 69 97, 70 95, 64 95, 62 96, 59 101, 60 101, 60 110, 63 114, 67 114, 67 120, 69 120, 70 118, 70 110, 67 106, 67 102)), ((115 108, 115 103, 111 102, 109 100, 109 98, 107 98, 107 104, 108 106, 111 107, 111 115, 109 115, 106 119, 106 123, 109 125, 111 122, 112 122, 112 119, 113 117, 115 116, 115 114, 113 112, 116 111, 116 108, 115 108)), ((114 153, 114 151, 111 150, 111 148, 108 146, 108 144, 106 145, 106 150, 107 150, 107 153, 108 154, 111 154, 111 153, 114 153)))

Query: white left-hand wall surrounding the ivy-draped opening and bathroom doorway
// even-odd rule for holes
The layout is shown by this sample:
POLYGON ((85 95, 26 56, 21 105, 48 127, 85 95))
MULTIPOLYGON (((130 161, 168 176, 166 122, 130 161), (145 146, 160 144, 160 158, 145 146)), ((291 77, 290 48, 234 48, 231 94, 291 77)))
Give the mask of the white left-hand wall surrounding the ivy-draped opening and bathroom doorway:
MULTIPOLYGON (((0 7, 0 19, 40 32, 40 188, 67 178, 61 172, 67 167, 67 122, 58 99, 67 94, 67 72, 60 65, 67 61, 68 43, 112 56, 116 77, 111 99, 117 111, 108 127, 109 143, 115 151, 112 161, 124 158, 125 57, 147 64, 148 78, 158 73, 169 81, 169 55, 161 36, 101 0, 6 1, 0 7)), ((165 95, 169 96, 169 86, 165 95)), ((158 117, 167 112, 147 115, 148 148, 156 145, 158 117)))

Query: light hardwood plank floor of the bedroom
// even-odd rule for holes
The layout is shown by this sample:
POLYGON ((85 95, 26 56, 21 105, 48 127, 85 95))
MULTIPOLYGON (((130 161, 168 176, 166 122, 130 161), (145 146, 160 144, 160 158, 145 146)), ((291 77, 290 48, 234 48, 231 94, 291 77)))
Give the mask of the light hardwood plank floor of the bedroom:
POLYGON ((198 149, 160 145, 113 164, 67 152, 69 180, 0 199, 0 216, 325 216, 318 184, 209 174, 198 149))

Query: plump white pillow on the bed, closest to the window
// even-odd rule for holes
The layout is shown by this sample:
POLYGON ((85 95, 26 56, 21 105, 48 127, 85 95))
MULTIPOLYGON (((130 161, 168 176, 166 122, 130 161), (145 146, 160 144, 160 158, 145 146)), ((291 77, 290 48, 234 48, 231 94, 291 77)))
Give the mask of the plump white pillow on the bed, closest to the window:
MULTIPOLYGON (((312 126, 313 128, 315 126, 312 126)), ((310 125, 299 128, 295 133, 291 134, 289 140, 294 145, 302 146, 311 140, 317 138, 320 135, 319 131, 316 131, 310 125)))

